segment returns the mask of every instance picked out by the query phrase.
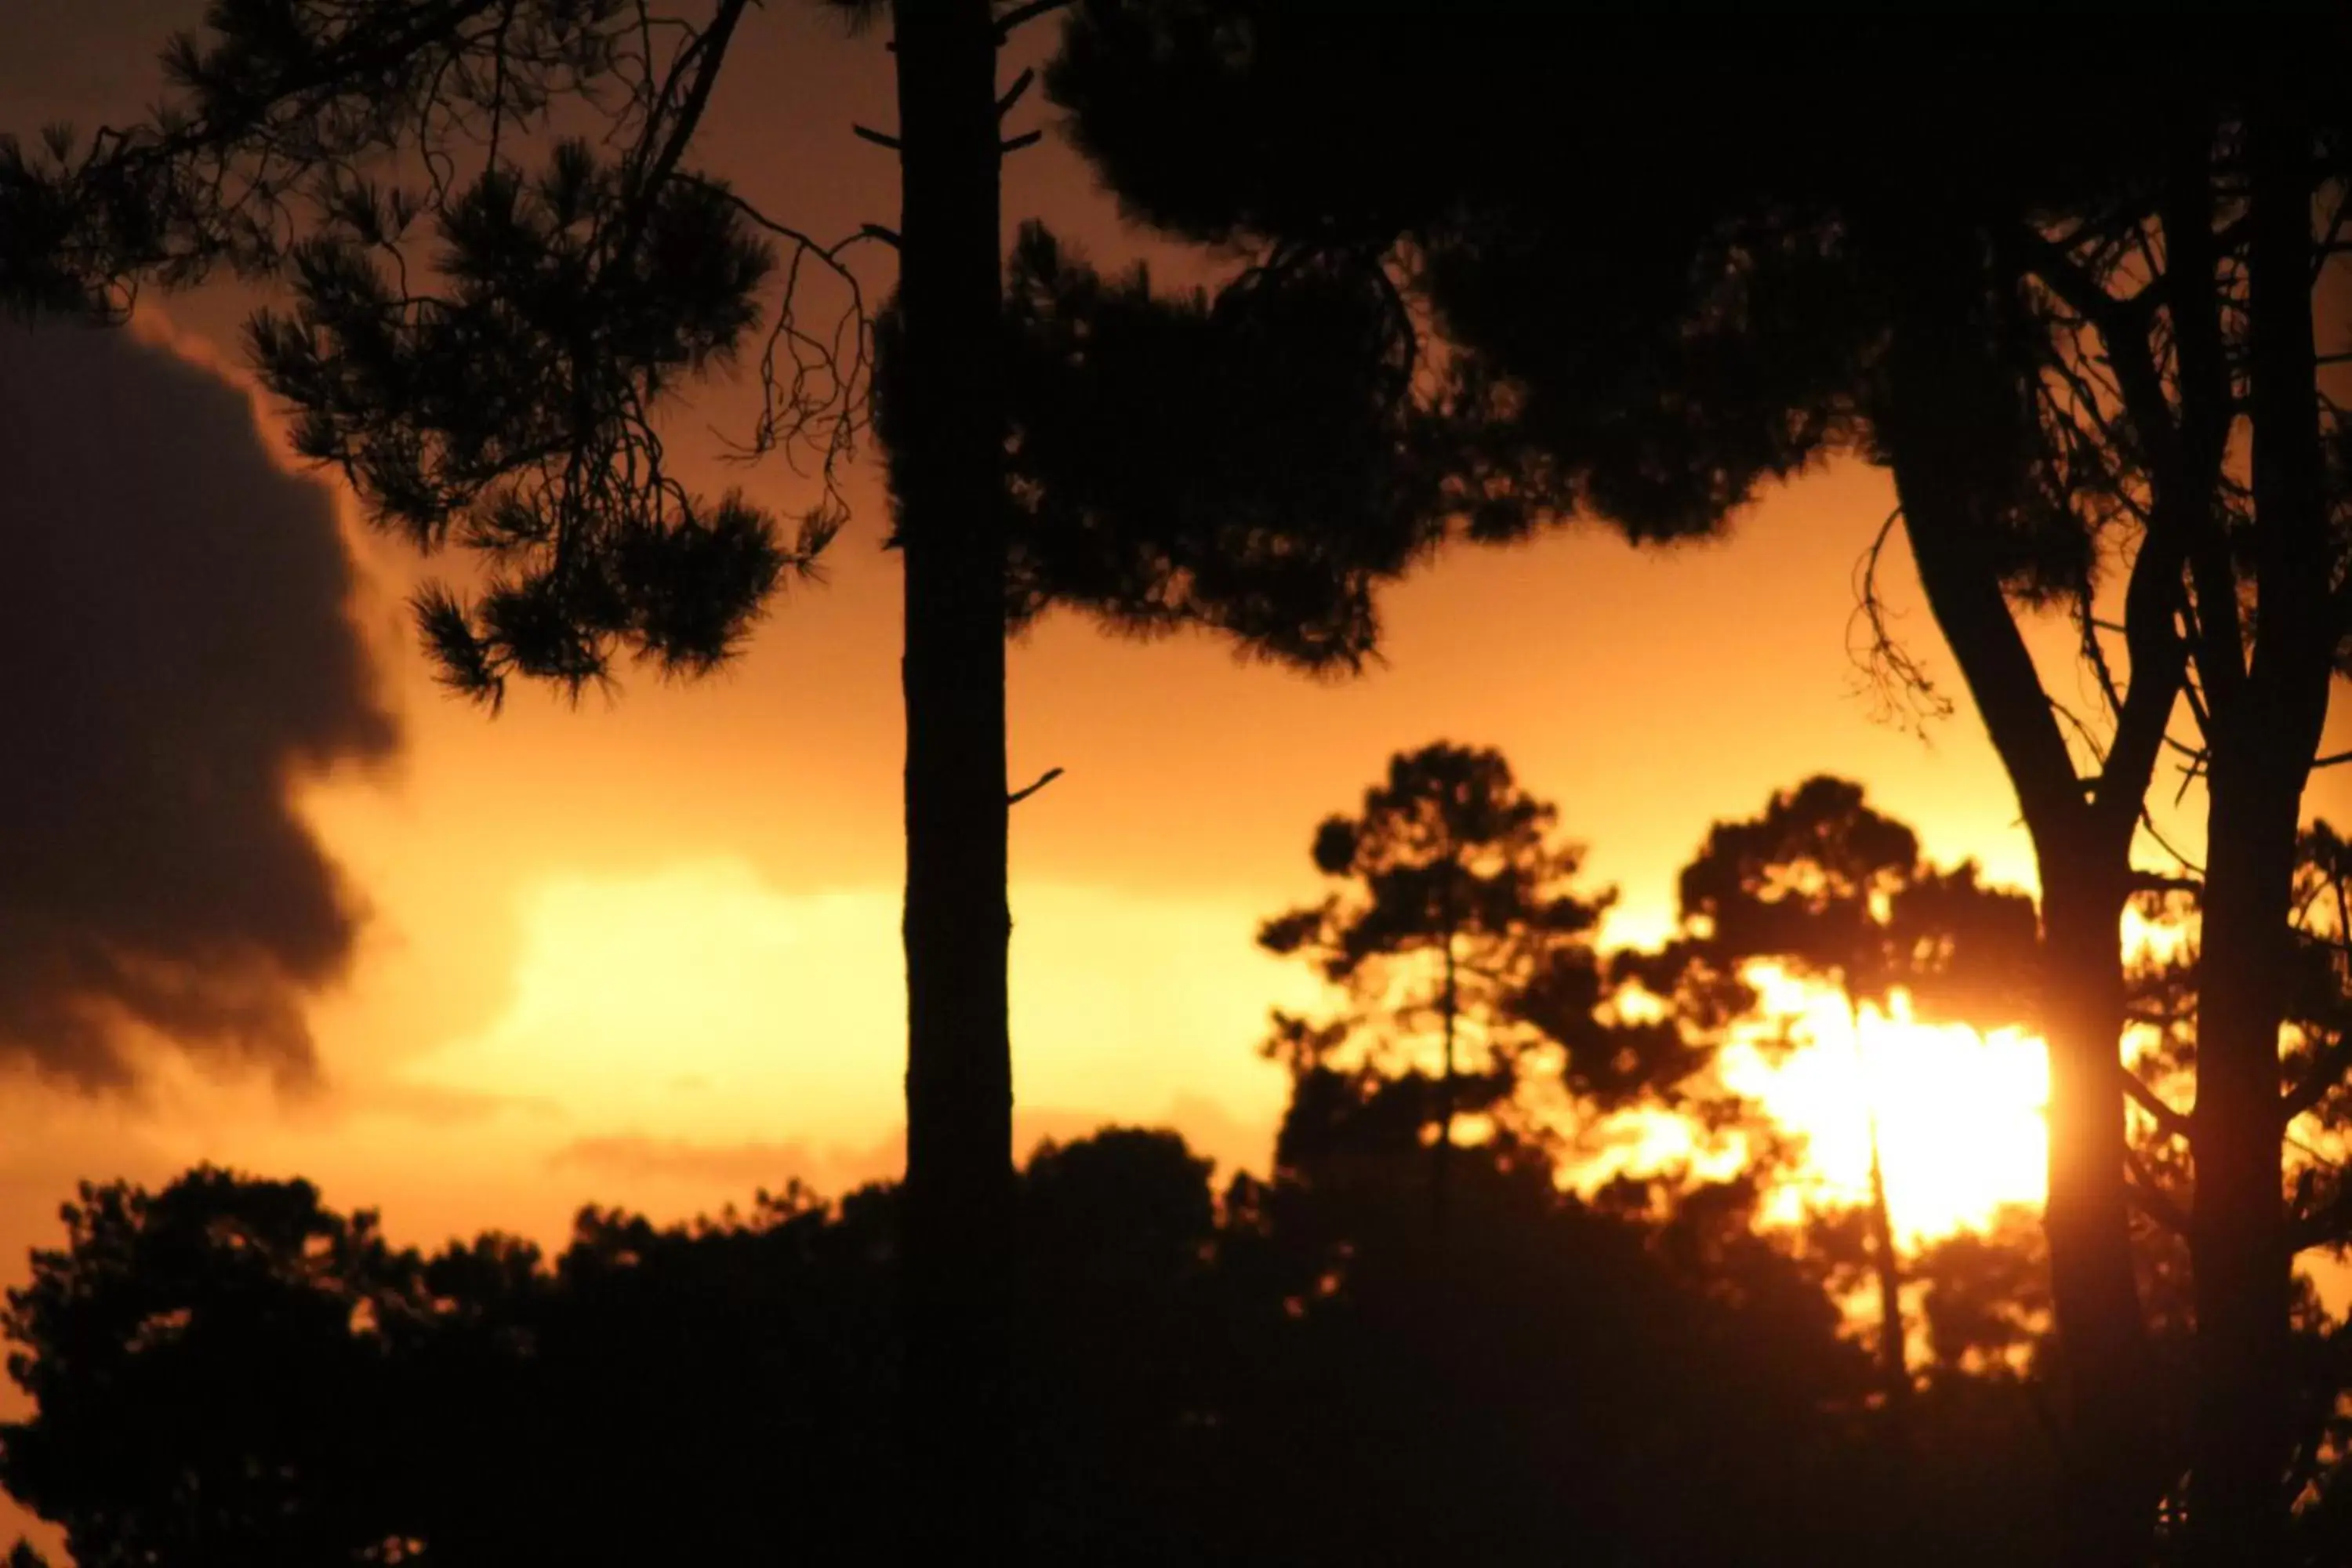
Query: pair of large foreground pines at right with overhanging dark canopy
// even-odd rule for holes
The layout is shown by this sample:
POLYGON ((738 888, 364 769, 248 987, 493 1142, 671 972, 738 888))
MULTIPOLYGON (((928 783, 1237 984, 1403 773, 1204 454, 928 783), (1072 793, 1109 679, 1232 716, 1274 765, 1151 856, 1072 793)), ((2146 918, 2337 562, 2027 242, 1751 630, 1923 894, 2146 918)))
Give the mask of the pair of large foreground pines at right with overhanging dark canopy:
MULTIPOLYGON (((2201 1559, 2274 1561, 2274 978, 2296 799, 2345 632, 2326 522, 2340 425, 2312 336, 2312 292, 2343 256, 2347 146, 2312 61, 2340 47, 2340 19, 2239 28, 2194 56, 2098 24, 1971 19, 1983 47, 1933 78, 1891 35, 1830 26, 1726 24, 1693 59, 1661 16, 1538 38, 1505 5, 1341 21, 1089 0, 1049 85, 1136 214, 1411 292, 1454 371, 1432 407, 1461 437, 1432 531, 1599 515, 1672 538, 1820 456, 1891 470, 2039 865, 2082 1561, 2145 1556, 2171 1483, 2145 1443, 2119 924, 2159 762, 2211 771, 2206 889, 2227 936, 2204 976, 2223 1011, 2199 1053, 2216 1088, 2197 1103, 2190 1519, 2201 1559), (1870 68, 1856 45, 1877 49, 1870 68), (1564 52, 1588 61, 1592 118, 1573 125, 1536 66, 1564 52), (1404 101, 1423 113, 1395 115, 1404 101), (1214 108, 1169 136, 1178 103, 1214 108), (1757 139, 1759 122, 1785 134, 1757 139), (2074 621, 2100 712, 2072 715, 2044 682, 2020 632, 2039 611, 2074 621)), ((1865 590, 1891 696, 1933 710, 1875 607, 1865 590)))

